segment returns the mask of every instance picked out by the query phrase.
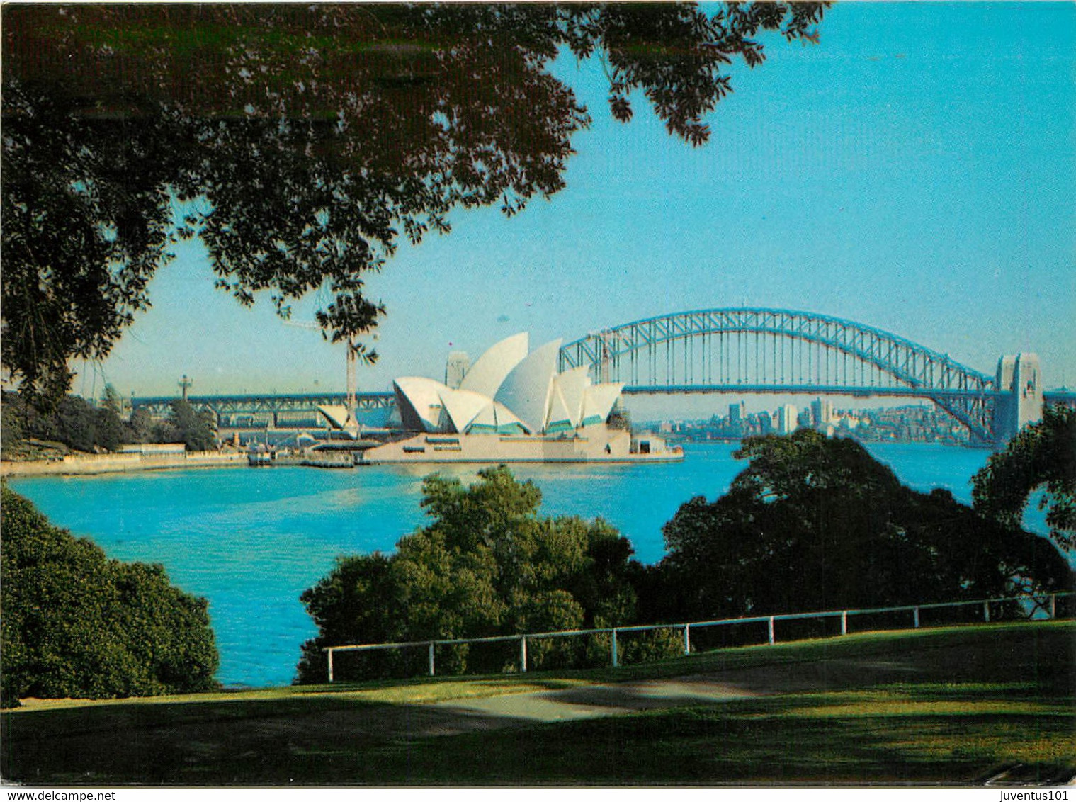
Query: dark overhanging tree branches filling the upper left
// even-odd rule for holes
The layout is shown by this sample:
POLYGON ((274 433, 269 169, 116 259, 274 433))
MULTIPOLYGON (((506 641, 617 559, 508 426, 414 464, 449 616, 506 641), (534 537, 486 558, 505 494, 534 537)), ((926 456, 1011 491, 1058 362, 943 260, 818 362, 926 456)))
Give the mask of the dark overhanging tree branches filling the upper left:
POLYGON ((3 365, 55 404, 194 235, 241 302, 286 315, 323 290, 350 341, 384 313, 364 276, 400 236, 563 187, 590 116, 548 71, 560 52, 603 59, 615 118, 641 93, 698 145, 733 59, 760 65, 766 31, 816 41, 823 8, 6 5, 3 365))

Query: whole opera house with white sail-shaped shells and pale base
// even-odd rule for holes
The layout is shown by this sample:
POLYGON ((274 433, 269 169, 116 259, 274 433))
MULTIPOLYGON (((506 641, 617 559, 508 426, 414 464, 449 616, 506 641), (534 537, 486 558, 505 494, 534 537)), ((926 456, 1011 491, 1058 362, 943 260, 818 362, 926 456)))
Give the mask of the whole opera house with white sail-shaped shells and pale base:
MULTIPOLYGON (((528 352, 526 333, 501 340, 462 371, 458 386, 421 377, 393 382, 405 439, 364 463, 621 462, 682 459, 661 438, 608 424, 623 384, 593 383, 586 367, 557 372, 561 341, 528 352)), ((455 383, 455 382, 453 382, 455 383)))

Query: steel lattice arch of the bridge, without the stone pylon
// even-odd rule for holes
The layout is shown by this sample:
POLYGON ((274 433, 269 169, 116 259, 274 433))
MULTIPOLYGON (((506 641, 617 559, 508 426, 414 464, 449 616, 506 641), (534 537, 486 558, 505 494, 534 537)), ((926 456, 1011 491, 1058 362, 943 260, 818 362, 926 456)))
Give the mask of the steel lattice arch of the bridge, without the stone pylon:
POLYGON ((586 365, 625 393, 821 393, 930 398, 994 439, 994 378, 948 354, 867 326, 784 309, 676 312, 594 332, 562 347, 562 370, 586 365))

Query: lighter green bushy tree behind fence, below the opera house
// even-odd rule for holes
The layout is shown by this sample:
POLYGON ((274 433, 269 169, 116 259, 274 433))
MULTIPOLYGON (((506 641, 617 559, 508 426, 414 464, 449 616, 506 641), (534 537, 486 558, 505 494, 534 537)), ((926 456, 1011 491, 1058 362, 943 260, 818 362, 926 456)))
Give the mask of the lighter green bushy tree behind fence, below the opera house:
MULTIPOLYGON (((326 646, 486 637, 610 627, 635 616, 632 547, 600 519, 541 518, 541 493, 500 466, 464 488, 439 475, 423 483, 433 522, 396 553, 344 557, 301 600, 320 634, 303 645, 299 680, 324 681, 326 646)), ((536 641, 533 667, 585 661, 586 644, 536 641)), ((608 647, 605 656, 608 656, 608 647)), ((363 658, 366 676, 414 670, 424 655, 363 658), (417 662, 416 662, 417 661, 417 662)), ((439 672, 499 671, 505 649, 458 646, 438 652, 439 672)))

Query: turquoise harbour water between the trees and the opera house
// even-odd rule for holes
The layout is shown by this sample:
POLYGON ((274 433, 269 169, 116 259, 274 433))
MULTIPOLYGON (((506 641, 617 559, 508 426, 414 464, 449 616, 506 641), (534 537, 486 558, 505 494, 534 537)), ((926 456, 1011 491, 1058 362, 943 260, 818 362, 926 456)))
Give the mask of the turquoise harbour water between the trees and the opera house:
MULTIPOLYGON (((971 502, 969 479, 988 451, 925 445, 869 447, 902 481, 946 488, 971 502)), ((664 553, 662 524, 695 495, 714 498, 742 468, 736 445, 685 447, 683 462, 516 465, 542 491, 544 515, 600 516, 643 562, 664 553)), ((26 478, 11 481, 48 518, 119 560, 161 563, 172 581, 209 599, 227 685, 286 685, 299 645, 316 634, 299 594, 338 554, 391 551, 425 522, 428 466, 317 470, 220 468, 26 478)), ((472 481, 473 466, 442 467, 472 481)))

